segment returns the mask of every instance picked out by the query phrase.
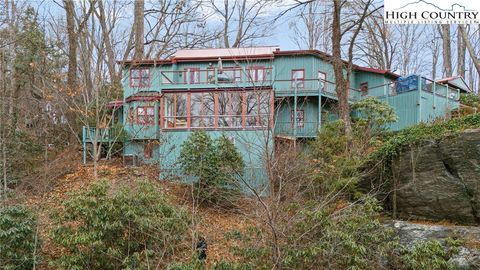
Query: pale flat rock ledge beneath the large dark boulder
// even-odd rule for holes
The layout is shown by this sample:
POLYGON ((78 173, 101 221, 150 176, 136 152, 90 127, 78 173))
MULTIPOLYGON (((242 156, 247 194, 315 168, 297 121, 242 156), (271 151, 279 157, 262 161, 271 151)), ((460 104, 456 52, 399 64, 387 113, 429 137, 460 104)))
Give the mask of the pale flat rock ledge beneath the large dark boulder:
POLYGON ((407 221, 391 221, 387 225, 393 227, 400 243, 406 246, 412 246, 416 241, 437 240, 446 247, 447 238, 461 239, 465 241, 463 246, 449 261, 457 269, 480 269, 479 227, 426 225, 407 221))

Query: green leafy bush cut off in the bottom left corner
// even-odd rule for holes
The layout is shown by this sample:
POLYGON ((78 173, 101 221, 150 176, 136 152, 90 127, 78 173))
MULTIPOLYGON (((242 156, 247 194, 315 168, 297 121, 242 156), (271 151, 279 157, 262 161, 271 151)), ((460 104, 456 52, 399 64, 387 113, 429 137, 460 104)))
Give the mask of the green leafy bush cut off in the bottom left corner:
POLYGON ((22 205, 0 208, 0 268, 33 269, 40 241, 34 214, 22 205))

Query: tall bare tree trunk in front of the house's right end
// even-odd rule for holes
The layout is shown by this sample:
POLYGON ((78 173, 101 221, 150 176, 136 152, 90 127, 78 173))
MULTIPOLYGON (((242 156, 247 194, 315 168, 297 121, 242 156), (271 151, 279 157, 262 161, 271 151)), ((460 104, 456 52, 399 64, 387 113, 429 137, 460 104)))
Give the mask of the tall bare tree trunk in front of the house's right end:
POLYGON ((340 118, 345 125, 345 132, 351 133, 352 125, 350 120, 350 109, 348 106, 348 79, 345 79, 343 70, 344 64, 342 61, 341 51, 341 22, 340 14, 342 11, 341 0, 333 0, 333 22, 332 22, 332 64, 333 73, 335 75, 335 92, 338 98, 338 111, 340 118))

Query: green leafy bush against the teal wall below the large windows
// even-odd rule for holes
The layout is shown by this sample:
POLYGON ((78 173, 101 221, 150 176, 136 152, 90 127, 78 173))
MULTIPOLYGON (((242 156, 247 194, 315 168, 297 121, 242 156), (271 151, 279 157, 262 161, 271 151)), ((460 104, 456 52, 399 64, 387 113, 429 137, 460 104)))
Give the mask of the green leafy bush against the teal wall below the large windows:
POLYGON ((193 132, 182 144, 179 162, 185 174, 196 178, 193 188, 200 202, 232 206, 241 195, 245 164, 225 135, 213 140, 204 131, 193 132))

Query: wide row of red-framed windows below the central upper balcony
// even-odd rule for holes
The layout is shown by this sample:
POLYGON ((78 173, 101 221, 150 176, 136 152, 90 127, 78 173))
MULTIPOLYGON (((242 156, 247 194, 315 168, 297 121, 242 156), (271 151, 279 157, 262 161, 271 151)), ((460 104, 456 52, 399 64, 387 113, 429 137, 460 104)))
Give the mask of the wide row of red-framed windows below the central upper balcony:
POLYGON ((272 113, 271 91, 166 93, 163 102, 164 128, 266 127, 272 113))

